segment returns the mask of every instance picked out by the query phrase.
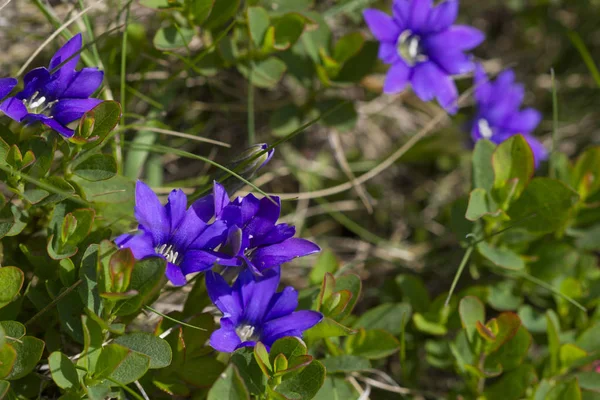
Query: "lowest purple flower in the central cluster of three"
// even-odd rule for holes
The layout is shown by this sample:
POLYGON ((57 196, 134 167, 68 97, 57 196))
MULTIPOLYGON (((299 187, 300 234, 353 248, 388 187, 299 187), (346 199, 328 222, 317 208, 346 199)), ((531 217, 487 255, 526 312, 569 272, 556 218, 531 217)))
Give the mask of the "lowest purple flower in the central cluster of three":
POLYGON ((316 311, 294 311, 298 293, 288 286, 276 293, 279 269, 261 280, 244 270, 230 287, 219 274, 206 274, 206 288, 212 302, 223 312, 221 328, 213 332, 210 345, 218 351, 232 352, 261 341, 267 348, 285 336, 302 337, 323 315, 316 311))

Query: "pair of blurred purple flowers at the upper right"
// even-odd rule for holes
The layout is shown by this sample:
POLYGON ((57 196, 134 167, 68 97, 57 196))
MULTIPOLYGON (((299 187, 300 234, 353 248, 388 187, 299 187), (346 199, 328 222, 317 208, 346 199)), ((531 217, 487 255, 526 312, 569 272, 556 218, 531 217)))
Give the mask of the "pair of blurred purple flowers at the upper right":
POLYGON ((437 98, 449 113, 457 111, 458 91, 453 76, 475 71, 477 114, 471 124, 473 140, 501 143, 523 134, 533 152, 536 166, 548 157, 544 146, 531 135, 541 120, 533 109, 520 110, 524 89, 514 83, 510 70, 488 82, 481 65, 465 53, 483 42, 479 30, 453 25, 458 0, 394 0, 392 15, 380 10, 364 11, 365 21, 380 42, 379 58, 391 64, 383 85, 388 94, 404 90, 408 83, 423 101, 437 98))

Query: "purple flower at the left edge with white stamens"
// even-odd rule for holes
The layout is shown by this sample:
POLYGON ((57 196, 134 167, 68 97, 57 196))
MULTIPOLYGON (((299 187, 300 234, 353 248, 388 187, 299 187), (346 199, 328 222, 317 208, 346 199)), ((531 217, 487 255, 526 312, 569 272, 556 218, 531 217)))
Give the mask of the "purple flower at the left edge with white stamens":
MULTIPOLYGON (((100 87, 104 77, 97 68, 75 71, 80 50, 81 34, 78 34, 54 54, 48 68, 29 71, 23 78, 23 90, 4 100, 0 111, 17 122, 39 121, 64 137, 73 136, 73 130, 66 125, 101 102, 89 97, 100 87)), ((0 83, 0 92, 3 92, 1 86, 0 83)))

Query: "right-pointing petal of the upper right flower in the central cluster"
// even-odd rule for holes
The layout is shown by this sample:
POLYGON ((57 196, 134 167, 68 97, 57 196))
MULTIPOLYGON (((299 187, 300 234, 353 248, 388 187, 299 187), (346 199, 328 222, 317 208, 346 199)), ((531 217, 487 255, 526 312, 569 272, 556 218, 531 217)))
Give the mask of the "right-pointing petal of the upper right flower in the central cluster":
POLYGON ((291 238, 281 243, 258 248, 251 257, 252 263, 260 271, 281 265, 296 257, 317 253, 319 246, 306 239, 291 238))

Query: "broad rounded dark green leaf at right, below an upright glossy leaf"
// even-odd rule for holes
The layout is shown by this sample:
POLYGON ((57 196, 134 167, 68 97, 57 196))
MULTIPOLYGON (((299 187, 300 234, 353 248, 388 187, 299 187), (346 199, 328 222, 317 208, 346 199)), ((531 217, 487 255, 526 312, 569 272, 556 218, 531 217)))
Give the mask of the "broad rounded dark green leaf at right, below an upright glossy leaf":
POLYGON ((577 199, 577 193, 564 183, 535 178, 511 205, 508 215, 530 232, 555 232, 563 227, 577 199))

